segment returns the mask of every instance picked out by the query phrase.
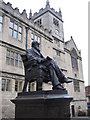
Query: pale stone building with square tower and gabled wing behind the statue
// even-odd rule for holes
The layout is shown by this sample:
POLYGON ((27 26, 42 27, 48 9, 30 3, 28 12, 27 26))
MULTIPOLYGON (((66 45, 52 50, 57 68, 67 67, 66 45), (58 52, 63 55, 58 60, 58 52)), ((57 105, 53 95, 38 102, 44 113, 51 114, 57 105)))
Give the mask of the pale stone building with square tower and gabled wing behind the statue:
MULTIPOLYGON (((26 10, 22 13, 12 8, 11 3, 0 1, 0 116, 13 118, 15 106, 11 99, 22 91, 24 66, 20 54, 31 48, 31 42, 40 42, 41 53, 53 58, 63 73, 73 82, 64 84, 70 96, 71 115, 77 116, 79 109, 86 112, 86 97, 83 81, 82 58, 73 38, 64 41, 62 13, 50 8, 47 0, 45 8, 29 18, 26 10)), ((35 82, 31 90, 35 90, 35 82)), ((28 88, 29 89, 29 85, 28 88)), ((43 83, 43 90, 51 90, 51 83, 43 83)))

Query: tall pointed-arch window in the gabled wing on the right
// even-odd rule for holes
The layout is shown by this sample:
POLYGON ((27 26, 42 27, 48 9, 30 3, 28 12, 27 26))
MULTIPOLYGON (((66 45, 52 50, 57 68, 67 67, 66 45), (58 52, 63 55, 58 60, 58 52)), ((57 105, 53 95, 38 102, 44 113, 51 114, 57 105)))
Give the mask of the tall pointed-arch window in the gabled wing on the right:
POLYGON ((77 62, 77 53, 75 49, 71 51, 71 63, 72 63, 72 68, 78 70, 78 62, 77 62))

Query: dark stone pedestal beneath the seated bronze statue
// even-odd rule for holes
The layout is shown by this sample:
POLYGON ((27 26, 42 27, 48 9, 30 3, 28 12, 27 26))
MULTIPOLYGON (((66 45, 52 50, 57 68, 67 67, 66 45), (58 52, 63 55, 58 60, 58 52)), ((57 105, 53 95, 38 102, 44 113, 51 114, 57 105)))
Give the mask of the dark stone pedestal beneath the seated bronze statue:
POLYGON ((18 93, 11 101, 15 104, 15 120, 20 118, 70 120, 71 100, 66 90, 53 90, 18 93))

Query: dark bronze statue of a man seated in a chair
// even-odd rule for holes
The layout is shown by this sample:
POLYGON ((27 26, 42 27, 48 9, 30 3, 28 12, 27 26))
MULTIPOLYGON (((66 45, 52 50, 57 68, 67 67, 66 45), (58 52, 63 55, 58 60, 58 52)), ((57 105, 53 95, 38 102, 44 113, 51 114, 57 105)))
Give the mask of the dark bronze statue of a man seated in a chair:
MULTIPOLYGON (((62 83, 70 83, 72 82, 69 80, 61 71, 61 69, 58 67, 56 62, 47 56, 46 58, 40 53, 40 47, 39 43, 37 41, 32 42, 32 48, 27 49, 26 55, 21 55, 24 67, 25 67, 25 83, 23 91, 26 91, 27 82, 31 79, 31 76, 39 76, 38 79, 38 87, 37 90, 42 90, 42 82, 48 82, 51 81, 54 89, 61 89, 65 90, 63 88, 62 83), (32 70, 33 69, 33 70, 32 70), (33 72, 30 72, 30 71, 33 72), (40 70, 40 72, 39 72, 40 70), (45 74, 43 73, 45 72, 45 74), (38 75, 40 73, 40 75, 38 75), (43 79, 43 76, 47 76, 45 79, 43 79), (43 80, 42 80, 43 79, 43 80)), ((33 79, 33 78, 32 78, 33 79)))

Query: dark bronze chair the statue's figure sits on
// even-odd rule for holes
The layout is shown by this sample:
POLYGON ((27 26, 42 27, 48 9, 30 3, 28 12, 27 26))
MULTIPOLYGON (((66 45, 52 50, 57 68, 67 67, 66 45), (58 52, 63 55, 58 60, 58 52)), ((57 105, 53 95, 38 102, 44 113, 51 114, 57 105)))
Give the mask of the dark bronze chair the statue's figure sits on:
POLYGON ((42 90, 42 83, 48 83, 50 81, 49 72, 43 64, 37 64, 37 61, 28 60, 26 55, 21 55, 24 69, 25 69, 25 82, 23 92, 27 91, 28 82, 36 81, 36 91, 42 90))

